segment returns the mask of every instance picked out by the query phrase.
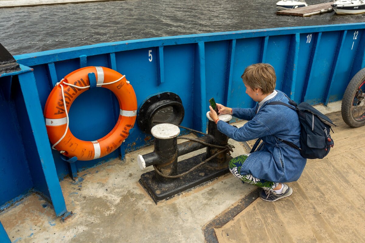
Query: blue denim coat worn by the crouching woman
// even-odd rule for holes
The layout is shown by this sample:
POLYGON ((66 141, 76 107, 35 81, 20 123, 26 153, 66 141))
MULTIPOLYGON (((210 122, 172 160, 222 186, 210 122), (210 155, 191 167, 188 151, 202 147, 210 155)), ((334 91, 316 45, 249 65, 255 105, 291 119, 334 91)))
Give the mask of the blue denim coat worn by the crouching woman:
POLYGON ((233 116, 247 120, 240 128, 219 120, 218 130, 239 142, 257 138, 262 139, 257 150, 243 163, 241 175, 252 174, 255 178, 272 182, 291 182, 299 179, 307 159, 301 157, 299 150, 280 142, 277 138, 294 143, 300 147, 300 123, 295 110, 283 105, 266 105, 272 101, 289 104, 284 93, 265 101, 260 110, 256 108, 233 108, 233 116))

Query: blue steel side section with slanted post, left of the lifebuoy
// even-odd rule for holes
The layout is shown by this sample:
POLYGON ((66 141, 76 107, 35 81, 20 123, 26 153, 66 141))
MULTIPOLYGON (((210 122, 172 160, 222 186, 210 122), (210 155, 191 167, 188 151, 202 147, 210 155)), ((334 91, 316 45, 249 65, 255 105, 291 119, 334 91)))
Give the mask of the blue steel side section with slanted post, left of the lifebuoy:
POLYGON ((26 196, 42 194, 57 216, 67 212, 51 156, 33 70, 20 65, 0 75, 0 210, 26 196))

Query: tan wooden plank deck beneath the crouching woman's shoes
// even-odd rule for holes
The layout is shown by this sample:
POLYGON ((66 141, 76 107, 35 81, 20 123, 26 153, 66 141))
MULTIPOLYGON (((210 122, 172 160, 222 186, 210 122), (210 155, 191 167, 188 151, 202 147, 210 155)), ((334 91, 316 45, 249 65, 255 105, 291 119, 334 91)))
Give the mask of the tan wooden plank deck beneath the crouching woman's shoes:
POLYGON ((256 199, 221 228, 226 242, 365 242, 365 126, 350 128, 341 112, 328 115, 338 127, 335 147, 308 160, 293 194, 276 202, 256 199))

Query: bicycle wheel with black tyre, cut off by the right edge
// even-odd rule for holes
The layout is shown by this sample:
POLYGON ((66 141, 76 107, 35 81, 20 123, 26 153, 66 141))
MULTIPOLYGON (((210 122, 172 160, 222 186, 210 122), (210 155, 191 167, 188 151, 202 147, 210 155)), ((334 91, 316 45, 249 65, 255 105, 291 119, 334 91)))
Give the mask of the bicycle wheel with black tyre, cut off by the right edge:
POLYGON ((365 124, 365 68, 351 79, 343 95, 341 104, 342 119, 350 127, 365 124))

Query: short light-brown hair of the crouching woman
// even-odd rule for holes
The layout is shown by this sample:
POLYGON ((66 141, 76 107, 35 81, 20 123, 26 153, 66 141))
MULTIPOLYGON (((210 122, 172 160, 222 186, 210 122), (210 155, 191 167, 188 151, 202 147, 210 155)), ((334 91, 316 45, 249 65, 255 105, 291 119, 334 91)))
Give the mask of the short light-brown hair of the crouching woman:
POLYGON ((273 66, 268 63, 256 63, 246 67, 242 81, 251 89, 261 89, 262 93, 272 93, 276 86, 276 74, 273 66))

